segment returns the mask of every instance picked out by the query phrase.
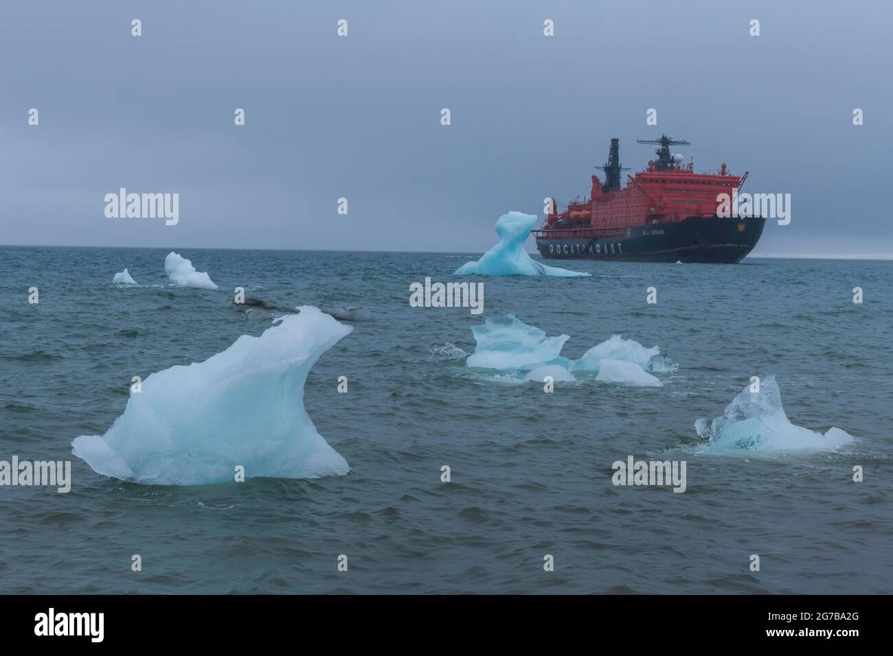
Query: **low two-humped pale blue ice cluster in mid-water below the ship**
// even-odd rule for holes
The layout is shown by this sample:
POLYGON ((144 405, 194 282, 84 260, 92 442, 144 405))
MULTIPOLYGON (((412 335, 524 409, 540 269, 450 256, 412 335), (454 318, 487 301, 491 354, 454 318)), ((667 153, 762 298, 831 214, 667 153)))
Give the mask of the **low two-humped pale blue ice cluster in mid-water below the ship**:
POLYGON ((678 369, 659 347, 647 349, 619 335, 592 347, 580 360, 568 360, 561 350, 569 336, 549 337, 513 314, 488 319, 472 332, 477 344, 465 364, 473 369, 513 371, 524 380, 542 382, 542 378, 551 376, 555 382, 571 382, 576 380, 574 373, 597 373, 596 379, 606 383, 661 386, 653 373, 678 369))

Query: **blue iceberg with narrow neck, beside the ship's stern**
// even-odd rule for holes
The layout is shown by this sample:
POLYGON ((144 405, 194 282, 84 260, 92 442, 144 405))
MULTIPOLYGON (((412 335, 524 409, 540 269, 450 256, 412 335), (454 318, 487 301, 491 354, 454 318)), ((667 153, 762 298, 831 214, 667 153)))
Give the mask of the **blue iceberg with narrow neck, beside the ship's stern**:
POLYGON ((488 276, 588 276, 588 273, 581 271, 547 267, 530 257, 524 250, 524 242, 536 222, 537 217, 532 214, 503 214, 496 225, 499 236, 497 245, 484 253, 478 262, 463 264, 455 271, 455 275, 481 273, 488 276))

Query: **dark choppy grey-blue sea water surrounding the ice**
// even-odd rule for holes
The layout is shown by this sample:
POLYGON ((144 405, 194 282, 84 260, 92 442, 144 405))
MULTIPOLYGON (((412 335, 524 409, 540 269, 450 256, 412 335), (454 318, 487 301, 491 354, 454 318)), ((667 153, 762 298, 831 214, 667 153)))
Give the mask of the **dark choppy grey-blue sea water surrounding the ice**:
POLYGON ((408 304, 411 282, 455 279, 468 254, 179 253, 220 289, 169 286, 160 249, 0 249, 0 460, 71 460, 73 477, 69 494, 0 487, 0 593, 890 591, 893 262, 567 262, 592 277, 475 278, 476 317, 408 304), (111 284, 125 267, 140 286, 111 284), (236 286, 278 305, 374 312, 305 386, 350 473, 143 486, 73 457, 72 439, 121 415, 133 375, 269 327, 233 310, 236 286), (568 357, 621 333, 680 368, 660 388, 586 381, 553 394, 475 376, 471 328, 505 312, 570 335, 568 357), (855 441, 701 453, 695 420, 771 373, 794 424, 855 441), (687 461, 688 490, 613 486, 612 462, 627 455, 687 461))

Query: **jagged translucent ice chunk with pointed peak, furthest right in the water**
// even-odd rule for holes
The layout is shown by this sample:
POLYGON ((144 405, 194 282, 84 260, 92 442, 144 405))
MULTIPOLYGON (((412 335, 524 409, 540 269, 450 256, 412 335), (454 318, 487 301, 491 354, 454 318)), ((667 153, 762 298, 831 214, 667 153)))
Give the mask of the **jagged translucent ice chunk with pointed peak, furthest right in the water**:
POLYGON ((722 417, 697 419, 695 430, 708 442, 708 453, 824 451, 853 441, 840 428, 822 435, 816 430, 795 426, 781 405, 781 392, 774 376, 760 381, 759 392, 751 386, 732 399, 722 417))

